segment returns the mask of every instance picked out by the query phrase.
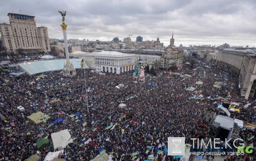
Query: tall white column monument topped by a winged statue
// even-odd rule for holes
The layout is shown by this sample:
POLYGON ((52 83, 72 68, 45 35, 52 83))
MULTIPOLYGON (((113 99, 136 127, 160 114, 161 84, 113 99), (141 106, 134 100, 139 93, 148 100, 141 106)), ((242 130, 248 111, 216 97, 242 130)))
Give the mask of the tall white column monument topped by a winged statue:
POLYGON ((62 24, 60 26, 63 30, 64 45, 65 45, 64 47, 65 47, 65 54, 66 54, 66 60, 67 60, 67 62, 64 64, 63 76, 64 77, 72 77, 73 75, 76 75, 76 69, 69 60, 68 39, 67 39, 67 27, 68 27, 68 25, 65 24, 65 15, 66 15, 67 11, 59 11, 59 12, 62 16, 62 24))

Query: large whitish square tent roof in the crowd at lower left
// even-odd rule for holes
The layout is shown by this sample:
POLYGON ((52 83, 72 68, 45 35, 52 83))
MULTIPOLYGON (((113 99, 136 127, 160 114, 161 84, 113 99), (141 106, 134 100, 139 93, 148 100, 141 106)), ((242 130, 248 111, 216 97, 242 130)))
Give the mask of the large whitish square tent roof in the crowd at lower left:
POLYGON ((68 129, 61 130, 60 132, 57 133, 52 133, 51 137, 54 150, 62 150, 69 143, 73 142, 73 139, 71 138, 71 134, 68 132, 68 129))

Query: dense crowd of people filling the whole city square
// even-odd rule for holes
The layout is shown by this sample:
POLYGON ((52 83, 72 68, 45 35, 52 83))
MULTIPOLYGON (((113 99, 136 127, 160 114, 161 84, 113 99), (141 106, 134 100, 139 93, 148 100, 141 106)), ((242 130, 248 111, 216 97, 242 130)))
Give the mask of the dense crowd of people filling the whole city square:
MULTIPOLYGON (((41 78, 38 75, 10 78, 1 70, 0 113, 6 120, 0 123, 0 160, 29 158, 38 152, 36 141, 48 137, 50 146, 40 150, 40 156, 45 158, 54 151, 51 134, 64 129, 69 129, 73 139, 59 156, 65 160, 90 160, 102 148, 113 160, 146 160, 152 155, 156 160, 175 160, 165 151, 167 138, 185 137, 189 143, 190 138, 202 134, 208 137, 205 113, 216 111, 216 103, 230 99, 240 103, 241 110, 232 112, 231 117, 256 123, 255 102, 240 96, 232 69, 224 65, 209 68, 202 62, 195 67, 196 70, 184 67, 178 71, 192 77, 159 71, 155 77, 147 74, 145 83, 134 83, 131 72, 100 75, 86 69, 86 89, 82 70, 77 70, 72 78, 63 78, 61 71, 44 73, 41 78), (197 81, 203 84, 196 84, 197 81), (149 82, 155 82, 155 86, 149 86, 149 82), (213 87, 214 82, 224 82, 225 86, 213 87), (123 86, 116 88, 117 84, 123 86), (200 99, 193 98, 195 91, 185 90, 191 86, 200 91, 200 99), (119 108, 120 103, 127 107, 119 108), (245 108, 247 103, 251 104, 245 108), (25 108, 24 114, 17 109, 20 105, 25 108), (38 111, 50 118, 43 124, 28 121, 27 116, 38 111), (71 117, 73 114, 77 118, 71 117), (55 123, 57 118, 65 121, 55 123), (88 139, 91 141, 85 144, 88 139)), ((246 129, 241 135, 255 133, 246 129)), ((255 143, 255 138, 250 142, 255 143)), ((255 155, 255 150, 251 155, 255 155)))

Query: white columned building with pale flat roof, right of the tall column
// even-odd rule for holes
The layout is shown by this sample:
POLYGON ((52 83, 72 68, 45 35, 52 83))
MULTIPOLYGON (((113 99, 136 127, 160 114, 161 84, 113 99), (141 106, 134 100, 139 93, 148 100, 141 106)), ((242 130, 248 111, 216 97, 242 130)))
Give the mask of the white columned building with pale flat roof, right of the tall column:
POLYGON ((135 69, 135 54, 113 51, 94 53, 95 70, 120 74, 135 69))

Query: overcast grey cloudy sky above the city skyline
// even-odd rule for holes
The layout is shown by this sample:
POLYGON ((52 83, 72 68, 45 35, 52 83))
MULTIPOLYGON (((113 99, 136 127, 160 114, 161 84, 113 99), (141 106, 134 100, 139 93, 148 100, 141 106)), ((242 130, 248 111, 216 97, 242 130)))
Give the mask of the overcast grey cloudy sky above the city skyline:
POLYGON ((255 0, 1 0, 0 22, 9 12, 35 16, 50 38, 63 39, 66 10, 68 39, 112 41, 138 35, 175 45, 256 46, 255 0))

